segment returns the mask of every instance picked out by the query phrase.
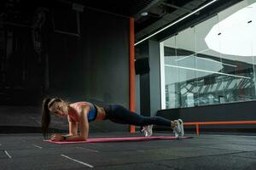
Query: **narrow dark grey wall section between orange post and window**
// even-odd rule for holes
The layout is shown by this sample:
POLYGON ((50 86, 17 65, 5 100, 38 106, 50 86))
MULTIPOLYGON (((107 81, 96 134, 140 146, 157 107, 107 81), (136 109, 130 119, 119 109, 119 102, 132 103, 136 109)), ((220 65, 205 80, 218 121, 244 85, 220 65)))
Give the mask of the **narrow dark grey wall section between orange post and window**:
POLYGON ((140 74, 140 112, 155 116, 160 110, 160 51, 159 42, 149 40, 136 46, 136 59, 147 58, 149 71, 140 74))

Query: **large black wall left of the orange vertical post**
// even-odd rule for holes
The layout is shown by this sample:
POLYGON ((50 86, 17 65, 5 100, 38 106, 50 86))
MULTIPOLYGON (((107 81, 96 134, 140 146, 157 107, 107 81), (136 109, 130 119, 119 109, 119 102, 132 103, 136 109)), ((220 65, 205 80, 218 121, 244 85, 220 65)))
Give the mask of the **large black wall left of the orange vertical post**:
POLYGON ((26 3, 0 19, 1 104, 38 105, 54 95, 128 106, 129 19, 86 8, 78 21, 72 4, 26 3))

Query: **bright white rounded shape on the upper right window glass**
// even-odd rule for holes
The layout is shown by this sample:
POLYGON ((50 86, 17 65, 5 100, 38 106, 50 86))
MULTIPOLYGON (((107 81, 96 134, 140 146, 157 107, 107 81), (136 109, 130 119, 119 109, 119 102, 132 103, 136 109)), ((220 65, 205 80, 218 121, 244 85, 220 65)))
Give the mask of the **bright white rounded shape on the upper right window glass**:
POLYGON ((251 31, 255 16, 256 3, 253 3, 230 14, 224 20, 219 20, 205 38, 207 46, 221 54, 255 55, 256 50, 252 52, 252 48, 256 47, 251 46, 252 38, 256 38, 256 32, 251 31))

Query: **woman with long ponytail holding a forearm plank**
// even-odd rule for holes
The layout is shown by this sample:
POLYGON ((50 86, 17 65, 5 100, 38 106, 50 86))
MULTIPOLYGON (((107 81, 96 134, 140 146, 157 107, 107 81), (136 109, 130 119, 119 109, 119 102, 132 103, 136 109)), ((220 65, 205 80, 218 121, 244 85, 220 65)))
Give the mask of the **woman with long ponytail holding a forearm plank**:
POLYGON ((146 137, 152 135, 153 125, 171 126, 177 139, 181 139, 184 135, 183 121, 181 119, 170 121, 160 116, 141 116, 137 113, 128 111, 121 105, 107 105, 102 108, 85 101, 68 104, 67 101, 60 98, 46 98, 43 102, 41 123, 44 137, 48 132, 50 113, 55 116, 67 117, 69 123, 69 134, 61 135, 55 133, 51 137, 51 139, 55 141, 86 140, 89 133, 89 122, 102 120, 141 126, 143 127, 143 133, 146 137), (78 133, 78 126, 80 126, 80 133, 78 133))

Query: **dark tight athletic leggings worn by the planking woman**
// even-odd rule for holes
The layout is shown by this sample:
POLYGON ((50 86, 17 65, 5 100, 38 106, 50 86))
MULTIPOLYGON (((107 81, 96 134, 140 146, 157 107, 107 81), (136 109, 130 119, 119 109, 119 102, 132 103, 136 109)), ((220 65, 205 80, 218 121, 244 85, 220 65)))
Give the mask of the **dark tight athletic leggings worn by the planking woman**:
POLYGON ((160 116, 141 116, 135 112, 127 110, 122 105, 107 105, 104 107, 106 112, 105 119, 112 122, 130 124, 135 126, 160 125, 171 126, 171 121, 160 116))

